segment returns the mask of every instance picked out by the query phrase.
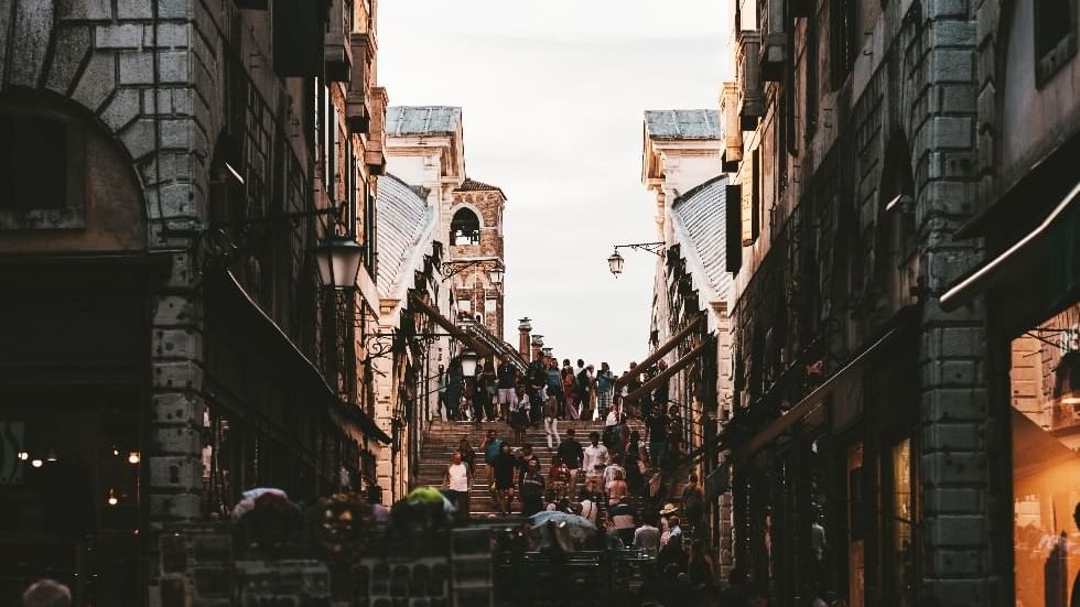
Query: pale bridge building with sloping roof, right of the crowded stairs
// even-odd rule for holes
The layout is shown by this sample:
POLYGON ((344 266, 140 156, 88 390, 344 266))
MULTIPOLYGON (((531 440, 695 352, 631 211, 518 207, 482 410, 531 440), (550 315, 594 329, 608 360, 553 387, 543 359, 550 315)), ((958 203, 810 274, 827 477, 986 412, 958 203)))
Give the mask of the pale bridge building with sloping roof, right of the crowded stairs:
POLYGON ((730 188, 721 155, 716 110, 646 111, 641 181, 656 195, 662 247, 654 288, 652 353, 641 364, 665 360, 667 370, 656 369, 658 377, 624 402, 644 413, 652 386, 668 378, 668 405, 677 405, 685 421, 679 440, 687 464, 679 474, 696 474, 705 486, 709 525, 694 533, 710 540, 726 575, 732 565, 731 495, 716 480, 727 454, 714 437, 732 412, 727 311, 733 282, 725 260, 730 188))

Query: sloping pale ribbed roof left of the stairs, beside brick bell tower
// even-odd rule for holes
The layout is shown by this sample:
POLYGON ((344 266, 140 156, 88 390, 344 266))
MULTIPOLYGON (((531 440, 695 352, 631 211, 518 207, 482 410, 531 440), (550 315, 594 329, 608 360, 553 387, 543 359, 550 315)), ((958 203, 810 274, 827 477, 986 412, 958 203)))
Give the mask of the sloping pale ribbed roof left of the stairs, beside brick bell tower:
POLYGON ((417 249, 425 232, 428 203, 417 195, 408 184, 393 175, 382 175, 378 180, 376 195, 376 239, 379 251, 379 267, 376 285, 379 295, 389 296, 398 275, 407 265, 410 253, 417 249))

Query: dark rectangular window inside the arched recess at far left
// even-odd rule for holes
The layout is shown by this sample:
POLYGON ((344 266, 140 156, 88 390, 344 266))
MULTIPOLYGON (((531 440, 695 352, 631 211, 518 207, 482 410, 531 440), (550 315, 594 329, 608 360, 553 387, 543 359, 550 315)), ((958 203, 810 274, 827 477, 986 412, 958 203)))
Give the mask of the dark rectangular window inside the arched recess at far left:
POLYGON ((0 229, 82 228, 78 123, 40 99, 0 100, 0 229))

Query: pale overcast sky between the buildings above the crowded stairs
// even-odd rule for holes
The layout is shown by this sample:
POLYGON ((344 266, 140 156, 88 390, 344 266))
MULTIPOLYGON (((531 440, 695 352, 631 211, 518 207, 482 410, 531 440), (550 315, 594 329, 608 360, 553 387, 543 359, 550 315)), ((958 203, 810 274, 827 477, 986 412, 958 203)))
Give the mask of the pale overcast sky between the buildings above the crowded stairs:
POLYGON ((616 371, 648 353, 657 239, 642 112, 716 108, 726 0, 382 0, 390 105, 461 106, 465 171, 508 197, 506 337, 517 319, 562 358, 616 371))

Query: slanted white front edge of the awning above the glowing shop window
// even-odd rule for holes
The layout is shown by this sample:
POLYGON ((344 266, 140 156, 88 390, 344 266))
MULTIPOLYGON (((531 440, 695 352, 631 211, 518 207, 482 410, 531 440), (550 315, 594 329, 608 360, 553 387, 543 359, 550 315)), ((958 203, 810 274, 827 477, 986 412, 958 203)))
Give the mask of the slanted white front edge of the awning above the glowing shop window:
MULTIPOLYGON (((1069 238, 1071 245, 1071 252, 1068 250, 1056 250, 1054 251, 1054 257, 1057 258, 1056 261, 1076 261, 1076 257, 1080 257, 1080 245, 1077 243, 1077 230, 1080 228, 1080 205, 1077 200, 1080 199, 1080 183, 1077 183, 1072 189, 1070 189, 1065 197, 1050 210, 1038 226, 1034 230, 1027 234, 1024 238, 1019 239, 1015 245, 997 254, 993 259, 986 260, 974 270, 962 277, 960 280, 954 282, 949 289, 946 290, 941 295, 941 308, 946 312, 955 310, 957 307, 970 302, 979 293, 985 291, 987 288, 993 286, 995 283, 1001 282, 1007 278, 1013 272, 1026 272, 1034 265, 1036 268, 1040 267, 1041 263, 1036 258, 1036 252, 1038 248, 1038 242, 1045 240, 1049 235, 1054 232, 1061 232, 1063 238, 1069 238)), ((1065 270, 1068 272, 1080 271, 1080 268, 1069 268, 1065 270)))

